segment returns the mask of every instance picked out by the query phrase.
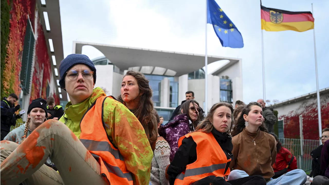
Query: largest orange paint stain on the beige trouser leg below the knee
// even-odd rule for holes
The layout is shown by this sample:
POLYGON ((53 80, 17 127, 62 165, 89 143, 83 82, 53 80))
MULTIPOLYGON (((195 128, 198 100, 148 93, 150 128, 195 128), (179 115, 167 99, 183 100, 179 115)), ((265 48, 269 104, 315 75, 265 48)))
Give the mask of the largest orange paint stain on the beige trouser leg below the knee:
MULTIPOLYGON (((42 123, 44 124, 44 123, 42 123)), ((29 164, 26 166, 24 173, 32 165, 32 168, 36 168, 44 156, 45 146, 37 146, 38 138, 40 134, 38 132, 32 132, 29 135, 28 142, 23 142, 18 148, 18 152, 25 153, 25 158, 29 161, 29 164)))

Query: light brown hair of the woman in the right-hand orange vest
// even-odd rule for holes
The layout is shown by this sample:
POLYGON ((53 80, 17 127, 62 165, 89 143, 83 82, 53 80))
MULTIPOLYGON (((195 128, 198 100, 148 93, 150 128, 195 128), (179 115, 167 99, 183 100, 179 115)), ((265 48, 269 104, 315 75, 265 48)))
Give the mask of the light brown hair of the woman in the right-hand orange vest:
MULTIPOLYGON (((198 126, 195 128, 195 132, 205 132, 205 133, 209 133, 213 130, 213 123, 212 123, 212 119, 214 117, 214 113, 216 111, 217 108, 221 107, 221 106, 225 106, 228 107, 231 110, 231 114, 233 113, 233 106, 230 103, 226 103, 226 102, 219 102, 214 104, 209 113, 207 114, 206 118, 203 119, 198 126)), ((232 125, 233 125, 233 118, 231 120, 231 126, 230 129, 226 132, 227 134, 229 134, 231 132, 232 129, 232 125)))

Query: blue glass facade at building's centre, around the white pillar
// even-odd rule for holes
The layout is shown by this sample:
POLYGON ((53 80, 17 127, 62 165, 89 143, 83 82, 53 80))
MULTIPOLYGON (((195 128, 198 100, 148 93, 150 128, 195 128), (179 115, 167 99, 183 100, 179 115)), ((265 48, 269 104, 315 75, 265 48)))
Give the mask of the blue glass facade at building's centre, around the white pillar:
MULTIPOLYGON (((144 74, 145 77, 150 81, 149 85, 153 91, 152 100, 154 106, 160 107, 160 92, 161 92, 161 80, 168 78, 170 82, 170 92, 169 92, 169 106, 178 106, 178 82, 174 81, 173 76, 161 76, 161 75, 150 75, 144 74)), ((169 117, 170 118, 170 117, 169 117)))

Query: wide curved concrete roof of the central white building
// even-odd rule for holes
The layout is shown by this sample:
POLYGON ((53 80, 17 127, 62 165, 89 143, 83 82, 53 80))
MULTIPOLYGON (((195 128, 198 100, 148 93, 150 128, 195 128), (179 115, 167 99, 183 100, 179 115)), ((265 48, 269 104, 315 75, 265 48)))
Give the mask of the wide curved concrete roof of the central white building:
MULTIPOLYGON (((73 53, 81 54, 85 45, 98 49, 120 70, 135 66, 157 66, 176 72, 175 76, 181 76, 205 66, 205 55, 89 42, 73 41, 73 53)), ((229 60, 234 64, 240 59, 208 55, 208 64, 220 60, 229 60)))

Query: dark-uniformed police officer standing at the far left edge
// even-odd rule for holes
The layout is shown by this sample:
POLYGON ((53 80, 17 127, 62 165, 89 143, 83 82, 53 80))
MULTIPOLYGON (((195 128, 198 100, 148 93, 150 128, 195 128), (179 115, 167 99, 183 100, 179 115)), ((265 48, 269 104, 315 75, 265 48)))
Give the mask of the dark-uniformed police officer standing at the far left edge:
POLYGON ((17 95, 11 93, 0 101, 0 141, 7 136, 10 127, 16 125, 16 119, 20 118, 20 115, 15 114, 20 109, 20 105, 15 106, 17 100, 17 95))

